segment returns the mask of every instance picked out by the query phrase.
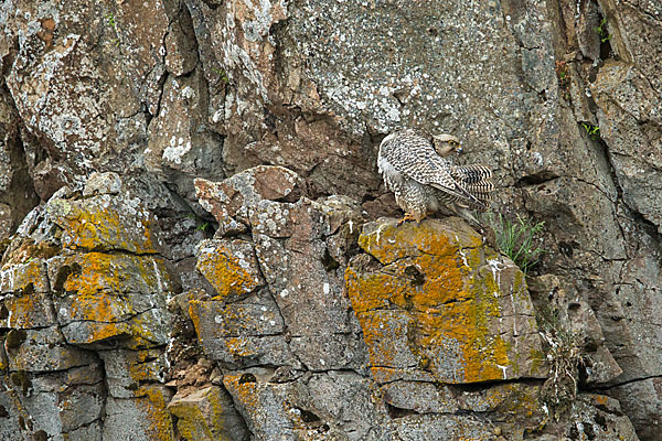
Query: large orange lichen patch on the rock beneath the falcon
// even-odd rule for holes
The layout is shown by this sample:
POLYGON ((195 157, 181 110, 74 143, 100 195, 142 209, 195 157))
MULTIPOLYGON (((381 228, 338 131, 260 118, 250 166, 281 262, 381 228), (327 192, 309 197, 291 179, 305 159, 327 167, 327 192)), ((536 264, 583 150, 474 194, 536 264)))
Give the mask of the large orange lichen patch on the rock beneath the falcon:
POLYGON ((345 273, 348 293, 373 366, 398 367, 394 364, 396 356, 402 363, 413 355, 438 380, 505 378, 510 366, 508 347, 488 321, 500 314, 499 299, 493 295, 499 288, 491 275, 481 277, 476 273, 477 268, 462 265, 480 260, 467 256, 478 252, 472 246, 480 239, 461 239, 465 243, 458 243, 457 235, 453 237, 433 223, 423 223, 418 229, 382 224, 360 237, 362 248, 387 265, 381 271, 366 273, 350 267, 345 273), (412 266, 423 281, 412 279, 412 271, 407 271, 412 266), (393 312, 384 315, 384 308, 393 312), (406 340, 410 354, 397 354, 394 342, 405 338, 405 322, 409 323, 406 340))

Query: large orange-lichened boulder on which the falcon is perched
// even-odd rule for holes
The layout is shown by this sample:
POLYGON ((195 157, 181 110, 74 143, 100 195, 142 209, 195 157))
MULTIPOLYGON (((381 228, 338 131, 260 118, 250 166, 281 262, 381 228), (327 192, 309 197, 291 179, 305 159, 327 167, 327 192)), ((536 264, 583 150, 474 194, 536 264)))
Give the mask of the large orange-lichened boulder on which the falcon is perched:
POLYGON ((359 244, 371 257, 353 260, 348 293, 378 381, 546 374, 524 276, 472 230, 453 222, 376 222, 359 244))

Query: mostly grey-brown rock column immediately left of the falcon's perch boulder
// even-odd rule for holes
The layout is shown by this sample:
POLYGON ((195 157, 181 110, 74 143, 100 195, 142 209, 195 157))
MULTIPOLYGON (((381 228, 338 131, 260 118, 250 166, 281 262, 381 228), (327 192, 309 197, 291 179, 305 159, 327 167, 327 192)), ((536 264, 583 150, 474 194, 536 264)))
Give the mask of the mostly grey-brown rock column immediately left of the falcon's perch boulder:
MULTIPOLYGON (((277 166, 249 169, 217 184, 196 182, 201 203, 221 225, 229 218, 252 233, 250 241, 214 239, 197 249, 197 268, 217 295, 192 300, 189 313, 205 352, 224 366, 364 365, 335 260, 342 260, 342 244, 355 238, 361 216, 340 202, 281 201, 298 197, 298 182, 296 173, 277 166)), ((221 226, 216 236, 236 232, 221 226)))

